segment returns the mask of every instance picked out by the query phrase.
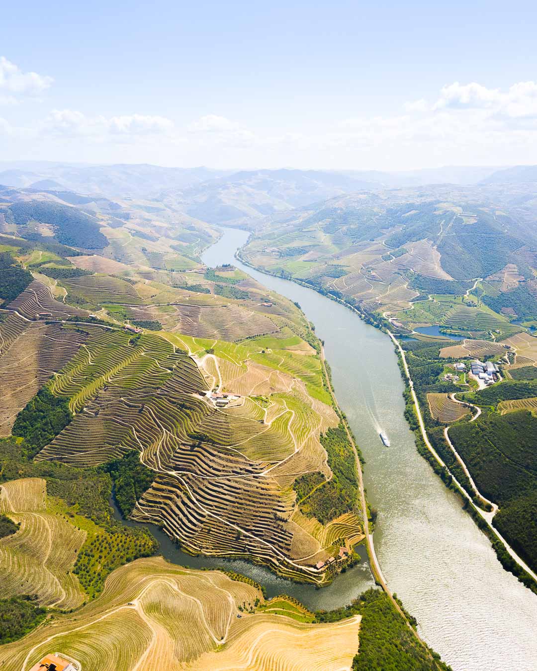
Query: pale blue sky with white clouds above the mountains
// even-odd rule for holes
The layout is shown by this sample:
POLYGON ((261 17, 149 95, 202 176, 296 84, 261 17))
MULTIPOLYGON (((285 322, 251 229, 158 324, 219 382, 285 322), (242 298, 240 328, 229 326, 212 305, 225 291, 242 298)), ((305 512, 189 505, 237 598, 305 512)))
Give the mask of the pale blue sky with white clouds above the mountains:
POLYGON ((0 159, 415 170, 537 164, 537 3, 28 0, 0 159))

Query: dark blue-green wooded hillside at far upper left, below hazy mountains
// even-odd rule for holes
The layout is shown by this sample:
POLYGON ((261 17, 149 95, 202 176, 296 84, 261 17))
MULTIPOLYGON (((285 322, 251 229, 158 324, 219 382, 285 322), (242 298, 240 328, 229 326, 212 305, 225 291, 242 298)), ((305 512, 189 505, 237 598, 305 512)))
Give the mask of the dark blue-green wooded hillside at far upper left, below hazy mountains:
MULTIPOLYGON (((56 240, 64 245, 86 249, 102 249, 107 238, 99 231, 99 221, 86 213, 50 201, 25 201, 13 203, 7 209, 6 220, 17 226, 30 221, 42 221, 54 226, 56 240)), ((24 236, 23 236, 24 237, 24 236)))

